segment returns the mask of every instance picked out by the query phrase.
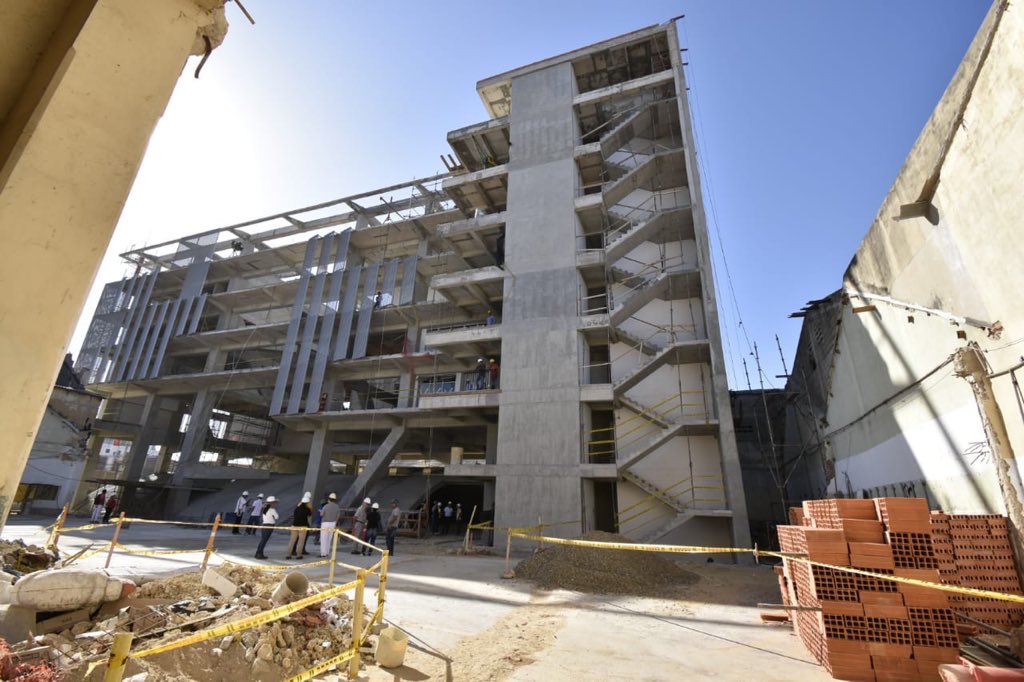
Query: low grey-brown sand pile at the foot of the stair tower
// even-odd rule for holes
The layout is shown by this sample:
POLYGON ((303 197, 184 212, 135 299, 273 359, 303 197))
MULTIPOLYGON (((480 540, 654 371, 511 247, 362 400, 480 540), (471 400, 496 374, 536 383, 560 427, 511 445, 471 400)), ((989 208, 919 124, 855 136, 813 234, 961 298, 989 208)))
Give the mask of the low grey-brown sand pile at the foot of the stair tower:
MULTIPOLYGON (((581 540, 630 543, 611 532, 592 531, 581 540)), ((553 545, 523 559, 515 567, 524 578, 547 589, 607 594, 655 594, 692 585, 699 579, 651 552, 553 545)))

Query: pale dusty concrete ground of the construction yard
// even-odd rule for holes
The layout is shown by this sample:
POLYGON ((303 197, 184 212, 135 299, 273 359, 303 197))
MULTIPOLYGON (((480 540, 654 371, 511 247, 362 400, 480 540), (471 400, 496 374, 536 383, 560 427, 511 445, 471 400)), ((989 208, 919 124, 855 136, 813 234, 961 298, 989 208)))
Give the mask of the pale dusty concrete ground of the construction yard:
MULTIPOLYGON (((45 542, 52 519, 13 518, 5 540, 45 542)), ((85 519, 69 519, 78 525, 85 519)), ((68 555, 110 541, 113 527, 61 536, 68 555)), ((120 542, 138 551, 196 548, 197 554, 142 556, 115 553, 112 572, 128 578, 195 569, 209 530, 134 524, 120 542)), ((287 532, 267 546, 269 560, 286 563, 287 532)), ((258 564, 257 540, 221 530, 221 559, 258 564)), ((460 556, 461 542, 399 538, 390 561, 385 620, 409 633, 411 646, 399 669, 370 668, 360 679, 385 680, 679 680, 779 682, 830 677, 801 645, 788 626, 763 625, 759 602, 777 602, 775 574, 766 566, 686 563, 699 581, 669 596, 583 594, 542 590, 522 580, 503 580, 504 556, 460 556), (451 659, 445 660, 441 655, 451 659)), ((307 550, 315 548, 309 542, 307 550)), ((338 558, 369 566, 376 558, 339 547, 338 558)), ((318 550, 313 549, 314 554, 318 550)), ((528 555, 523 548, 516 560, 528 555)), ((307 557, 313 560, 318 557, 307 557)), ((101 567, 105 553, 84 560, 101 567)), ((305 571, 326 581, 327 566, 305 571)), ((338 568, 338 581, 352 577, 338 568)), ((376 589, 376 585, 368 584, 376 589)), ((344 679, 338 674, 322 679, 344 679)))

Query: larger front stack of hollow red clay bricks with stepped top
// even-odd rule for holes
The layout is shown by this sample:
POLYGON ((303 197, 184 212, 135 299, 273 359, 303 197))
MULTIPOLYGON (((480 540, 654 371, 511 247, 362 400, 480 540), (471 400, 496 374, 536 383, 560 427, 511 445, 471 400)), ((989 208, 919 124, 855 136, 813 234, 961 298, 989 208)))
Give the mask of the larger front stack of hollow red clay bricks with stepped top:
MULTIPOLYGON (((834 566, 939 582, 924 500, 812 500, 803 525, 778 527, 783 552, 834 566)), ((791 514, 798 519, 800 514, 791 514)), ((779 585, 794 628, 833 677, 938 680, 959 642, 947 593, 784 559, 779 585), (817 610, 820 609, 820 610, 817 610)))

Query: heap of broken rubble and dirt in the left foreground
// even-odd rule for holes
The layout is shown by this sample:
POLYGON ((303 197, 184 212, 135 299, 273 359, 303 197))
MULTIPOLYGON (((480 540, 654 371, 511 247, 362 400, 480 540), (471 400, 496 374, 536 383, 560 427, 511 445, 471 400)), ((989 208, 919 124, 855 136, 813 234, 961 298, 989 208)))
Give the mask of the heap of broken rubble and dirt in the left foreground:
MULTIPOLYGON (((299 598, 293 595, 271 601, 274 588, 284 578, 281 574, 245 566, 224 567, 218 573, 237 588, 231 596, 222 596, 208 587, 203 573, 179 573, 144 583, 98 608, 40 621, 34 630, 38 634, 12 649, 43 650, 43 659, 57 669, 62 680, 101 680, 103 666, 90 663, 105 660, 115 633, 132 632, 135 650, 152 648, 299 598)), ((309 586, 309 593, 322 589, 309 586)), ((369 612, 366 617, 370 617, 369 612)), ((351 601, 341 595, 273 623, 141 659, 131 658, 126 677, 144 673, 148 682, 229 679, 240 674, 254 680, 287 679, 351 646, 351 601)))

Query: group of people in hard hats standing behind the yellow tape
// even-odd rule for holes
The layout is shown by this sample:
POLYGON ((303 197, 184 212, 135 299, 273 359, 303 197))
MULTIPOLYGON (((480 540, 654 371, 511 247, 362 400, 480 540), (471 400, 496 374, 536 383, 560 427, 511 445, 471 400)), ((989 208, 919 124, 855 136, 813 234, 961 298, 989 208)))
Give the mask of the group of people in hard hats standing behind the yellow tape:
MULTIPOLYGON (((249 501, 249 491, 244 491, 234 503, 234 523, 242 525, 243 518, 248 513, 244 525, 246 535, 255 535, 256 527, 260 526, 260 541, 256 548, 256 558, 267 558, 263 554, 266 544, 273 534, 274 526, 281 520, 281 513, 278 511, 278 499, 268 496, 263 498, 260 493, 252 502, 249 501)), ((327 498, 321 500, 321 504, 314 510, 312 505, 312 493, 305 493, 302 499, 295 506, 292 514, 291 536, 288 541, 288 556, 286 559, 300 559, 307 556, 306 540, 309 537, 308 528, 319 528, 318 534, 312 534, 313 544, 319 545, 319 555, 327 558, 331 552, 332 534, 341 521, 341 507, 338 506, 338 496, 331 493, 327 498)), ((391 509, 387 520, 383 521, 380 512, 380 505, 370 498, 362 501, 362 504, 355 510, 352 520, 352 535, 370 545, 377 544, 377 537, 380 532, 385 534, 388 553, 394 554, 394 537, 398 531, 401 522, 401 510, 398 508, 398 501, 391 501, 391 509)), ((240 534, 238 526, 231 528, 234 535, 240 534)), ((352 554, 370 554, 371 550, 365 545, 354 544, 352 554)))

